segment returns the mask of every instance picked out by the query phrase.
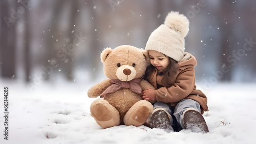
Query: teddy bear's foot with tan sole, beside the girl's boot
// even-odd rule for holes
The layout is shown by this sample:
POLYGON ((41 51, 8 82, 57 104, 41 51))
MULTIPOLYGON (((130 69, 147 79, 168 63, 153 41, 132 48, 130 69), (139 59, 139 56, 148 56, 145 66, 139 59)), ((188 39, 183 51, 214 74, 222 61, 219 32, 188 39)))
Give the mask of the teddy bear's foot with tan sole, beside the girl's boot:
POLYGON ((136 108, 133 112, 132 112, 132 109, 130 110, 124 116, 126 117, 124 118, 124 123, 125 125, 128 125, 128 126, 130 125, 133 125, 136 127, 141 126, 146 122, 147 118, 151 114, 151 108, 146 105, 141 105, 140 107, 136 108), (129 118, 127 119, 127 117, 129 118))

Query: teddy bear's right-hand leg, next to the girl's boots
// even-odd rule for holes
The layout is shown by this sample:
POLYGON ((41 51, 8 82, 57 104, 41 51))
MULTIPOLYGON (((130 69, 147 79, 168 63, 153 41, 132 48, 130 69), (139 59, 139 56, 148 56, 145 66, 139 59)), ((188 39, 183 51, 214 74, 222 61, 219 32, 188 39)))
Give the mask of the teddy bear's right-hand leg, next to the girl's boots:
POLYGON ((141 126, 153 111, 153 105, 145 100, 136 102, 125 114, 123 122, 126 126, 141 126))

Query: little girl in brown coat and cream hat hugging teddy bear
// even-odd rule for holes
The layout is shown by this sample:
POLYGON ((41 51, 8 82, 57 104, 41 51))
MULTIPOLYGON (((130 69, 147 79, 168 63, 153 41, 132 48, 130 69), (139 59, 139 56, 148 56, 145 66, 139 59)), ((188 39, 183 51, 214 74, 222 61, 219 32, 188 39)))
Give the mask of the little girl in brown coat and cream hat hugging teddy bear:
POLYGON ((156 90, 143 91, 142 98, 157 101, 147 121, 151 128, 208 132, 202 116, 208 111, 207 98, 195 85, 197 61, 192 54, 184 52, 188 26, 184 15, 170 12, 146 43, 151 65, 147 67, 145 79, 156 90))

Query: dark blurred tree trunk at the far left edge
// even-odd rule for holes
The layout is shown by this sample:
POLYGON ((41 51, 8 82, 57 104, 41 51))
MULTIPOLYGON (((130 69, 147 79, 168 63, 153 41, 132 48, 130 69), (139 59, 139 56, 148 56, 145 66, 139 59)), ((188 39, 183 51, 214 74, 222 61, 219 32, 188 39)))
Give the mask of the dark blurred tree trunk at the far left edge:
POLYGON ((15 77, 15 43, 16 43, 16 19, 18 13, 15 12, 16 3, 10 1, 1 1, 1 76, 15 77))

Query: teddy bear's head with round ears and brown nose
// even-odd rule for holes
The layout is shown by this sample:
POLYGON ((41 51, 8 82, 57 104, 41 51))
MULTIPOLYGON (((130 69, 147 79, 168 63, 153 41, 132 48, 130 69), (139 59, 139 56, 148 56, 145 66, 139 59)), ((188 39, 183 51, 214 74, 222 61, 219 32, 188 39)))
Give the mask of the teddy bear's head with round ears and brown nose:
POLYGON ((105 76, 121 81, 141 78, 150 64, 145 50, 130 45, 121 45, 114 49, 105 48, 100 57, 105 76))

